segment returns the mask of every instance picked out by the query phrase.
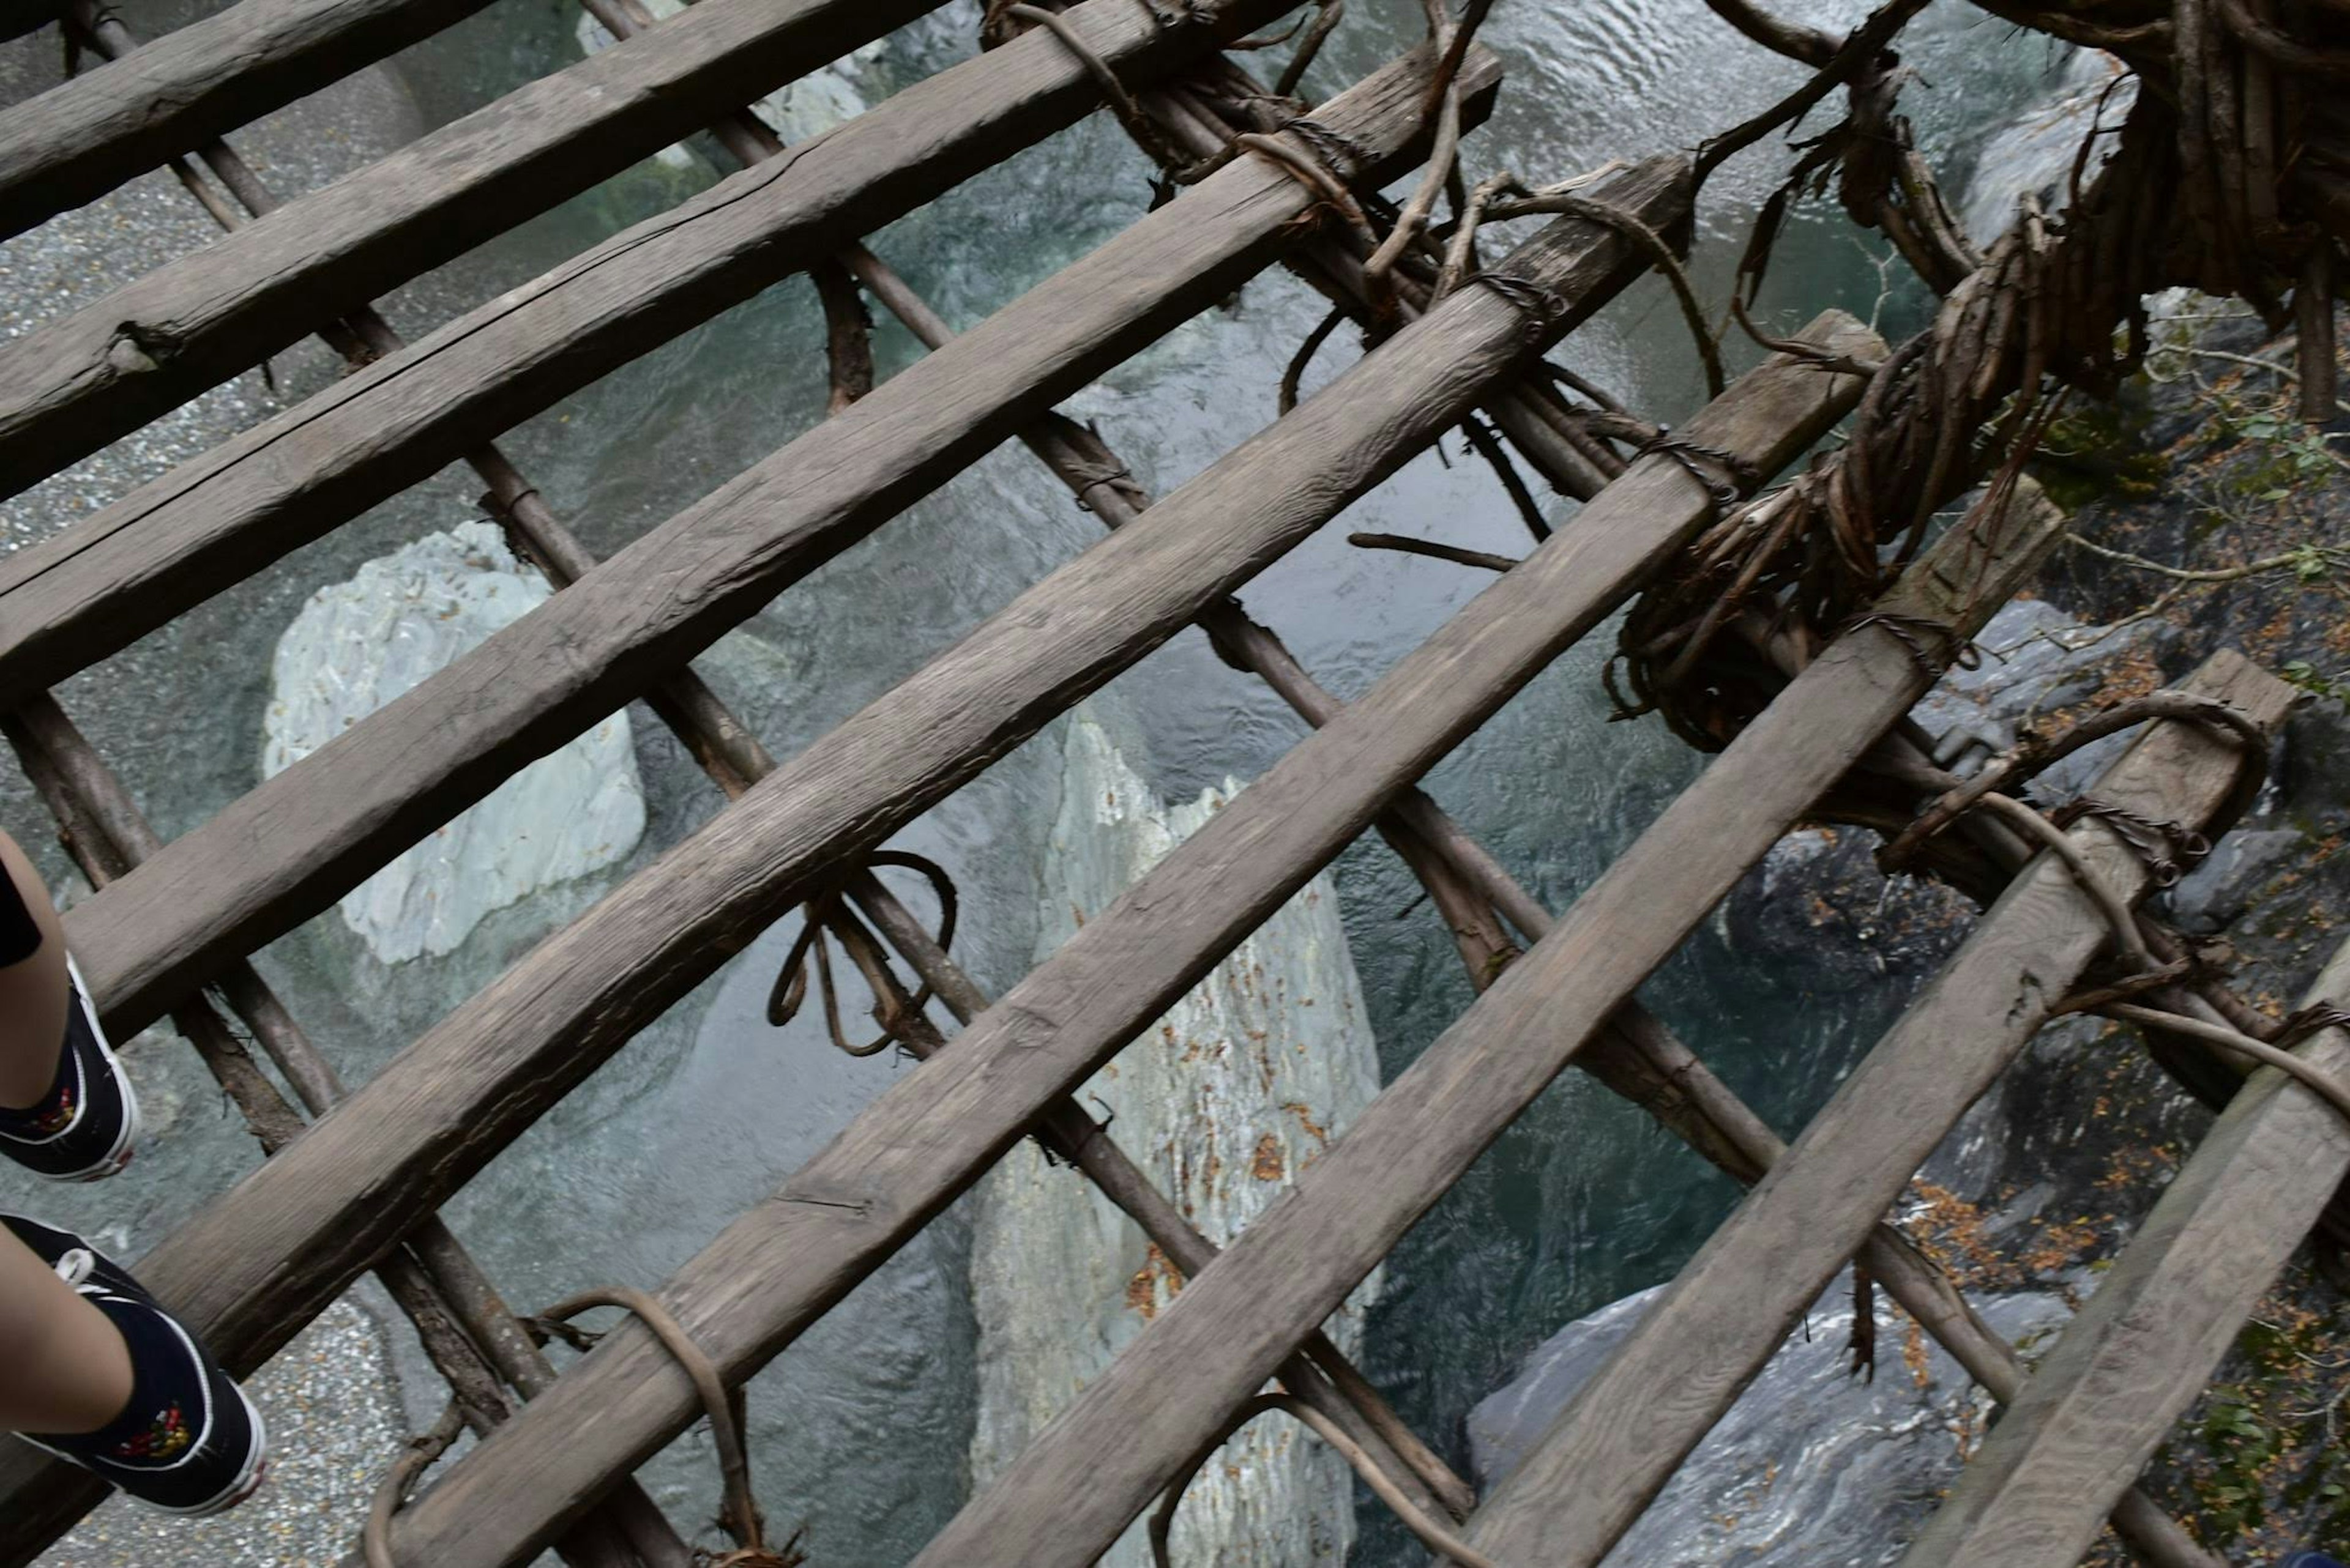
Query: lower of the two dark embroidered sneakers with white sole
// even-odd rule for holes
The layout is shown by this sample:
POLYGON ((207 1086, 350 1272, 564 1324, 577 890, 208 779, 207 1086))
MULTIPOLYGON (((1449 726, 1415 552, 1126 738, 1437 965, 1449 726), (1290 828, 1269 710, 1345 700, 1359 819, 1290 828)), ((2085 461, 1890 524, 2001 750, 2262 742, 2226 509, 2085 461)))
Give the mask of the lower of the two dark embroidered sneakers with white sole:
POLYGON ((195 1335, 73 1232, 19 1215, 0 1225, 103 1312, 132 1352, 122 1415, 96 1432, 19 1436, 167 1514, 219 1514, 251 1497, 266 1467, 261 1413, 195 1335))

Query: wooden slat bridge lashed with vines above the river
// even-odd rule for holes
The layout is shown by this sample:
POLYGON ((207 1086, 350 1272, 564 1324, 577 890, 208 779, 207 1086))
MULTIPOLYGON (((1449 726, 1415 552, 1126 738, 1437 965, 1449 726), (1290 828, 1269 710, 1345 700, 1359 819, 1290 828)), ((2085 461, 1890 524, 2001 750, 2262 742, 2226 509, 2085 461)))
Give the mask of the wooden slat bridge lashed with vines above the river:
MULTIPOLYGON (((2350 1072, 2343 1030, 2268 1044, 2247 1039, 2254 1020, 2202 994, 2124 985, 2160 999, 2174 1027, 2223 1041, 2237 1074, 2291 1044, 2301 1077, 2251 1077, 2030 1375, 1887 1213, 2101 954, 2176 959, 2120 907, 2157 867, 2106 809, 2223 830, 2258 776, 2247 736, 2282 724, 2287 686, 2232 656, 2204 665, 2186 686, 2197 701, 2138 715, 2143 733, 2096 785, 2101 813, 2049 827, 2056 842, 2033 837, 2033 813, 2021 825, 1962 816, 1950 837, 1988 867, 1995 903, 1833 1103, 1781 1143, 1636 992, 1856 769, 1906 802, 1889 830, 1955 785, 1904 715, 2030 578, 2061 522, 2009 475, 1833 637, 1774 639, 1765 628, 1755 649, 1774 661, 1777 696, 1565 912, 1535 903, 1422 795, 1415 780, 1431 764, 1668 569, 1734 491, 1751 494, 1852 411, 1887 353, 1831 313, 1647 440, 1570 397, 1542 353, 1671 261, 1659 247, 1690 226, 1687 158, 1537 193, 1535 209, 1549 200, 1556 216, 1480 266, 1429 216, 1462 134, 1502 89, 1499 63, 1471 42, 1483 5, 1462 19, 1434 5, 1426 45, 1309 110, 1290 96, 1295 80, 1274 92, 1243 68, 1255 54, 1227 52, 1283 24, 1297 0, 996 7, 999 47, 792 148, 747 113, 710 125, 710 106, 750 103, 931 0, 703 0, 660 24, 637 0, 583 0, 616 47, 322 190, 273 193, 221 141, 482 5, 240 0, 141 42, 101 0, 19 0, 9 31, 54 21, 89 59, 82 75, 0 110, 7 233, 162 165, 226 230, 0 346, 9 491, 303 334, 352 364, 0 559, 0 726, 101 889, 70 912, 68 933, 110 1027, 172 1018, 268 1150, 148 1253, 141 1276, 233 1368, 251 1371, 376 1272, 446 1373, 456 1422, 482 1436, 407 1507, 388 1500, 364 1547, 371 1561, 515 1563, 550 1544, 597 1568, 691 1561, 679 1528, 630 1481, 634 1467, 712 1401, 724 1434, 726 1401, 710 1380, 752 1378, 1025 1135, 1097 1182, 1189 1284, 961 1509, 924 1566, 1090 1563, 1170 1486, 1180 1493, 1236 1418, 1264 1410, 1269 1380, 1278 1408, 1340 1443, 1441 1554, 1598 1563, 1854 1258, 2009 1406, 1904 1563, 2059 1568, 2108 1516, 2153 1563, 2216 1561, 2134 1479, 2350 1168, 2350 1128, 2322 1098, 2326 1074, 2350 1072), (1170 197, 978 327, 952 334, 860 244, 1097 110, 1175 172, 1170 197), (369 306, 698 129, 743 169, 672 212, 416 343, 369 306), (1375 197, 1431 153, 1436 176, 1417 179, 1401 209, 1375 197), (1269 266, 1297 270, 1377 346, 1198 477, 1152 498, 1095 433, 1053 414, 1269 266), (592 559, 491 437, 799 270, 818 275, 844 350, 837 411, 592 559), (898 315, 928 357, 865 386, 846 350, 858 294, 898 315), (1478 411, 1516 463, 1584 505, 1340 703, 1231 595, 1478 411), (797 757, 771 757, 691 658, 1010 437, 1109 536, 797 757), (214 820, 160 842, 47 686, 454 461, 475 468, 517 552, 559 592, 214 820), (1018 987, 982 994, 872 877, 872 853, 1184 625, 1264 677, 1311 738, 1018 987), (639 698, 731 804, 374 1079, 345 1086, 247 954, 639 698), (2228 724, 2214 722, 2216 705, 2228 724), (1483 994, 1217 1255, 1069 1093, 1119 1051, 1149 1051, 1152 1020, 1368 830, 1426 884, 1483 994), (667 1279, 658 1307, 639 1298, 639 1321, 557 1375, 435 1211, 799 907, 926 1065, 667 1279), (964 1025, 952 1044, 928 1001, 964 1025), (291 1103, 223 1009, 270 1056, 291 1103), (1570 1065, 1753 1192, 1523 1467, 1478 1497, 1318 1326, 1570 1065)), ((1304 47, 1335 9, 1307 21, 1304 47)), ((1767 505, 1748 512, 1758 527, 1767 505)), ((2350 1001, 2350 957, 2312 1001, 2350 1001)), ((31 1448, 0 1450, 7 1561, 35 1556, 96 1495, 31 1448)), ((743 1552, 780 1556, 740 1479, 728 1526, 743 1552)))

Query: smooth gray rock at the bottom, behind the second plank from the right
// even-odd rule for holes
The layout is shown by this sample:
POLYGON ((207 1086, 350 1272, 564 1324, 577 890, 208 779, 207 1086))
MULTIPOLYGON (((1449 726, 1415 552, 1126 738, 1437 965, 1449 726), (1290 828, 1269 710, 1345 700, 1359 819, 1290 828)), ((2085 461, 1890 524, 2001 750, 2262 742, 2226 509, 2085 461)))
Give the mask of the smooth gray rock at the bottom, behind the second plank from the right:
MULTIPOLYGON (((1600 1307, 1546 1340, 1518 1380, 1469 1413, 1480 1490, 1506 1476, 1666 1286, 1600 1307)), ((1976 1302, 2014 1342, 2061 1326, 2054 1295, 1976 1302)), ((1812 1307, 1730 1415, 1697 1446, 1617 1549, 1612 1568, 1875 1568, 1981 1439, 1988 1401, 1908 1319, 1878 1302, 1878 1375, 1847 1368, 1852 1274, 1812 1307)))

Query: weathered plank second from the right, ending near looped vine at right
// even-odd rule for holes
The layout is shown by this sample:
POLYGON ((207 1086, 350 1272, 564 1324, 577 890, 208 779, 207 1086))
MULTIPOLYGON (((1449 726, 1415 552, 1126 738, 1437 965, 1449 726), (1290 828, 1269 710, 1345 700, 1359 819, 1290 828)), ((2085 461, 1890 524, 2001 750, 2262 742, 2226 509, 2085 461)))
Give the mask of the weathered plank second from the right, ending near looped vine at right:
MULTIPOLYGON (((2211 658, 2188 689, 2268 729, 2294 696, 2235 654, 2211 658)), ((1737 748, 1725 762, 1730 755, 1737 748)), ((2096 792, 2200 825, 2235 778, 2232 748, 2195 726, 2164 724, 2143 733, 2096 792)), ((1694 797, 1683 795, 1676 811, 1694 797)), ((2146 891, 2146 865, 2101 825, 2075 827, 2073 839, 2124 898, 2146 891)), ((2103 943, 2106 924, 2070 872, 2049 853, 2035 858, 1488 1497, 1469 1540, 1509 1563, 1598 1563, 2103 943)))

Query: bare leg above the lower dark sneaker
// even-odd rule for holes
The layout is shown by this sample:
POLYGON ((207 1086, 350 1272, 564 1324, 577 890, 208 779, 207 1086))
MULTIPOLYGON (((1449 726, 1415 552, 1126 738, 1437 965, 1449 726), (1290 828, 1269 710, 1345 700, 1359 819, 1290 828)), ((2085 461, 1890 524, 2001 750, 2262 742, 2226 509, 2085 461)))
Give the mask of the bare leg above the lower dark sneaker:
POLYGON ((122 1335, 7 1229, 0 1229, 0 1368, 7 1432, 96 1432, 132 1401, 122 1335))

